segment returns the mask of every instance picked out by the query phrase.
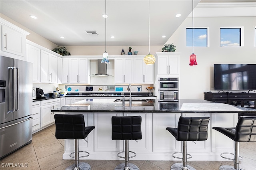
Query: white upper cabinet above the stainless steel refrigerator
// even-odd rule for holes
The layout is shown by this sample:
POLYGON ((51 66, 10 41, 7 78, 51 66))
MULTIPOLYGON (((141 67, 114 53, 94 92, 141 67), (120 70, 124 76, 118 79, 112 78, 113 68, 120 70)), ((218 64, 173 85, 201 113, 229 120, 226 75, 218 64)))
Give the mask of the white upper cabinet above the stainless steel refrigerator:
POLYGON ((1 55, 25 60, 26 36, 30 33, 1 18, 1 55))

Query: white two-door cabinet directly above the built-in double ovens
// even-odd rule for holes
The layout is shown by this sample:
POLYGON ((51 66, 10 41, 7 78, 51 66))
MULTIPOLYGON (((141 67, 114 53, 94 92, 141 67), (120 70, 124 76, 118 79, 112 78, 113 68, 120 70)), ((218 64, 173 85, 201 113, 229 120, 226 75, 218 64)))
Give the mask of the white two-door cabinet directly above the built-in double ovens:
POLYGON ((179 53, 156 53, 158 75, 179 75, 180 54, 179 53))

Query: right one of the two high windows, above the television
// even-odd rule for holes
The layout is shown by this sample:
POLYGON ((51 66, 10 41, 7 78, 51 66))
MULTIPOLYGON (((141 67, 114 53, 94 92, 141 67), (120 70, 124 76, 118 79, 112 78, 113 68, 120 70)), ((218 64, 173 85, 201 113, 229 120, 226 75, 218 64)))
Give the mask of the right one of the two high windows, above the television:
POLYGON ((242 28, 220 28, 220 46, 243 46, 242 28))

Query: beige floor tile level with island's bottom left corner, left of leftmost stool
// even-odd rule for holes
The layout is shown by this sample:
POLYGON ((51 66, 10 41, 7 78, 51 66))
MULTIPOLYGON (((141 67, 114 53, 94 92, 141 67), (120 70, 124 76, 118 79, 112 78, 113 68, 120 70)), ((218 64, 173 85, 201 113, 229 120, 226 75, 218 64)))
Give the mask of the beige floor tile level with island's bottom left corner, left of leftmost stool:
POLYGON ((63 150, 64 150, 64 147, 62 146, 62 144, 58 142, 58 143, 50 144, 50 145, 35 149, 35 152, 36 152, 37 159, 40 159, 40 158, 44 158, 46 156, 58 153, 63 150))

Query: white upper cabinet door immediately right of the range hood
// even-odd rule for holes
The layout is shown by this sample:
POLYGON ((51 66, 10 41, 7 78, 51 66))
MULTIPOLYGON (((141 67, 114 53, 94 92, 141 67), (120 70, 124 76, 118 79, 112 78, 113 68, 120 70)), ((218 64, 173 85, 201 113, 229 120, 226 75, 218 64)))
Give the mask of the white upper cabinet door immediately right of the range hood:
POLYGON ((124 83, 124 59, 115 59, 115 83, 124 83))

